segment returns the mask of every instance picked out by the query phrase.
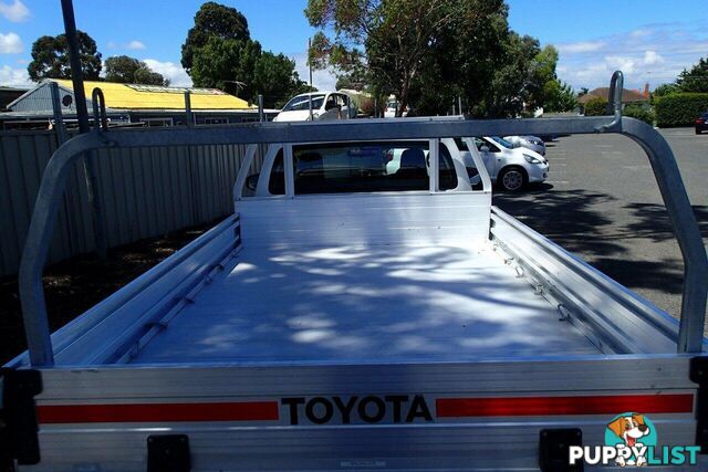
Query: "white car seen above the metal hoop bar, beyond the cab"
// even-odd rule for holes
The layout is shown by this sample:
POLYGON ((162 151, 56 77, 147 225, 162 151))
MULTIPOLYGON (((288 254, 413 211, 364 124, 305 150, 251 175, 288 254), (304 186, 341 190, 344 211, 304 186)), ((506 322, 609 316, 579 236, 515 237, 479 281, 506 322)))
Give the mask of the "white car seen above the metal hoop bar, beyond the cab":
POLYGON ((273 122, 306 122, 310 119, 345 119, 356 116, 356 107, 348 95, 342 92, 312 92, 295 95, 283 106, 273 122))

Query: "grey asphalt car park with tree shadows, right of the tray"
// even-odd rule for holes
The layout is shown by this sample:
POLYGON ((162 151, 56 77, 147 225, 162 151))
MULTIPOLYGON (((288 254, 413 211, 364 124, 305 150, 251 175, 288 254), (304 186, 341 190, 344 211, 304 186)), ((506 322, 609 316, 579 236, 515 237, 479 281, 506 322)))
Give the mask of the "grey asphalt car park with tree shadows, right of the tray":
MULTIPOLYGON (((708 244, 708 134, 660 132, 671 146, 708 244)), ((644 151, 617 135, 548 144, 549 179, 494 204, 677 316, 684 264, 644 151)))

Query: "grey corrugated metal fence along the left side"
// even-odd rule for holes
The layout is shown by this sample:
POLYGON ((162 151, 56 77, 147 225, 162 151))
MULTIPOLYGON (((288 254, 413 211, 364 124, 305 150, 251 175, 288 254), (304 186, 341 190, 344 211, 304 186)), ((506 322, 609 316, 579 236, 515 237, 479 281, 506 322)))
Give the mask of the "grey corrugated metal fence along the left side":
MULTIPOLYGON (((0 276, 18 271, 42 172, 56 147, 51 130, 0 133, 0 276)), ((231 188, 244 153, 242 145, 98 153, 108 247, 229 214, 231 188)), ((94 248, 82 166, 80 161, 73 169, 64 195, 50 262, 94 248)))

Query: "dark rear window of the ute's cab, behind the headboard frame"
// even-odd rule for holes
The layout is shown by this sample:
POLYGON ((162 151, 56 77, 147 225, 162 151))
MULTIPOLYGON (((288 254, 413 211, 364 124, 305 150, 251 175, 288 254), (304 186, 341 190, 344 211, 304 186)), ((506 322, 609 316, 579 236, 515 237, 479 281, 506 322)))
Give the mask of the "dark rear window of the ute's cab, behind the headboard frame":
MULTIPOLYGON (((440 190, 457 187, 449 151, 440 146, 440 190)), ((429 189, 428 141, 293 146, 296 195, 429 189)), ((273 164, 269 190, 284 193, 282 156, 273 164)))

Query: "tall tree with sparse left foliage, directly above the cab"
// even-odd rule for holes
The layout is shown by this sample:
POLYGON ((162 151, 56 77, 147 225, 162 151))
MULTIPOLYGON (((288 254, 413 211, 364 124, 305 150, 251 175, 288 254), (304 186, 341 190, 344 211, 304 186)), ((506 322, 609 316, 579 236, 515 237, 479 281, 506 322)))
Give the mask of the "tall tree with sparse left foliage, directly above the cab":
POLYGON ((310 62, 350 72, 364 66, 372 88, 395 93, 398 116, 414 82, 431 62, 438 32, 461 12, 454 0, 309 0, 305 15, 321 29, 312 41, 310 62), (332 38, 324 31, 333 31, 332 38))

